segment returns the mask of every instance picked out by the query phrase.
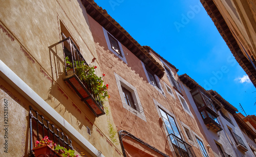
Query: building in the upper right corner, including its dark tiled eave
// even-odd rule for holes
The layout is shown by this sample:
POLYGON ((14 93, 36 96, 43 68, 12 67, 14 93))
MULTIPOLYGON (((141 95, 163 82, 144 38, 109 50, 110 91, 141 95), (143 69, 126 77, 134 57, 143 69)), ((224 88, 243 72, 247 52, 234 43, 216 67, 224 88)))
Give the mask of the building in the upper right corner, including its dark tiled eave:
POLYGON ((256 87, 256 2, 201 0, 234 58, 256 87))

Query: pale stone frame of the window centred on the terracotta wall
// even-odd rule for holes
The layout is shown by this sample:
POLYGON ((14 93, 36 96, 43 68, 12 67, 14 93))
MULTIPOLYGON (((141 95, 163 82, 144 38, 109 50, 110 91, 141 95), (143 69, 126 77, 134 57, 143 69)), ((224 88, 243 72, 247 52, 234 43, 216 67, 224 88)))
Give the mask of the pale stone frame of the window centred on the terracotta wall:
POLYGON ((119 91, 119 95, 120 95, 120 98, 121 98, 121 101, 122 101, 123 108, 129 110, 132 114, 136 115, 137 117, 139 117, 140 119, 142 119, 146 122, 146 117, 145 117, 145 114, 144 114, 143 107, 140 103, 140 99, 139 99, 137 89, 132 84, 130 84, 129 82, 124 80, 118 74, 116 74, 116 73, 114 73, 114 74, 115 74, 117 88, 118 88, 118 91, 119 91), (130 91, 132 93, 136 109, 134 109, 133 107, 126 104, 125 98, 123 96, 122 86, 125 87, 128 91, 130 91))

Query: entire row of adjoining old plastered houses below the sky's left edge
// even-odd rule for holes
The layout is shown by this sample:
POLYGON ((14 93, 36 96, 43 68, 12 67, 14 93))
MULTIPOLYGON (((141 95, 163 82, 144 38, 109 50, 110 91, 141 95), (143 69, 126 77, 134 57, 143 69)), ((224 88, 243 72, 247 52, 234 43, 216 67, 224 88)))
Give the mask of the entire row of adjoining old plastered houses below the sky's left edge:
POLYGON ((94 1, 1 4, 3 156, 34 156, 45 136, 80 156, 253 155, 254 117, 178 76, 94 1))

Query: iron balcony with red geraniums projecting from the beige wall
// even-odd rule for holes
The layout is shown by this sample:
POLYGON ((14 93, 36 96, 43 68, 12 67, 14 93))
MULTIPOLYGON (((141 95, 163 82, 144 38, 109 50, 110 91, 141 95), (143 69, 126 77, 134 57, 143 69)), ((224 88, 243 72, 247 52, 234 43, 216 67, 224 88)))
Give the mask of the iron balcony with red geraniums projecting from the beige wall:
MULTIPOLYGON (((65 38, 63 34, 62 36, 65 38)), ((102 101, 98 94, 94 94, 92 82, 90 80, 81 81, 76 73, 77 66, 88 65, 86 60, 83 58, 82 54, 70 37, 53 44, 53 46, 56 46, 59 43, 62 43, 65 63, 66 77, 64 77, 63 80, 68 84, 72 91, 78 95, 81 101, 83 101, 91 109, 92 113, 96 117, 104 115, 105 112, 103 110, 102 101), (68 61, 72 64, 68 65, 72 66, 71 69, 67 69, 68 61)))

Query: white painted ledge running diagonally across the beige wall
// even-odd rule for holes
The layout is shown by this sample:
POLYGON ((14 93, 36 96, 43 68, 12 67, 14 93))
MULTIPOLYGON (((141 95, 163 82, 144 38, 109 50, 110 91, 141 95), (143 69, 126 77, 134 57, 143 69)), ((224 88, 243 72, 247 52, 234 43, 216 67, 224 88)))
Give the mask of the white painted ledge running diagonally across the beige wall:
POLYGON ((27 98, 35 107, 62 128, 92 156, 104 157, 87 139, 85 139, 70 123, 55 111, 44 99, 37 95, 22 79, 20 79, 2 60, 0 60, 0 76, 27 98))

